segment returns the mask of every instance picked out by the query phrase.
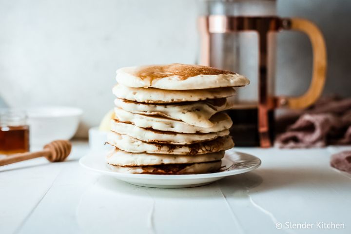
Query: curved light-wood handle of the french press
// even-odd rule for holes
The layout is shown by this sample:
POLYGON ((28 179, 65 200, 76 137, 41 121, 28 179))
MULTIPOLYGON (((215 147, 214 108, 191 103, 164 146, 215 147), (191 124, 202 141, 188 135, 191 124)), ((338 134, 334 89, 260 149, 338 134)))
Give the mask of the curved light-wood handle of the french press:
POLYGON ((306 33, 311 40, 313 52, 312 80, 306 93, 299 97, 277 97, 277 106, 286 106, 292 109, 303 109, 312 105, 321 95, 327 70, 327 50, 322 33, 316 25, 305 19, 290 19, 288 29, 306 33))

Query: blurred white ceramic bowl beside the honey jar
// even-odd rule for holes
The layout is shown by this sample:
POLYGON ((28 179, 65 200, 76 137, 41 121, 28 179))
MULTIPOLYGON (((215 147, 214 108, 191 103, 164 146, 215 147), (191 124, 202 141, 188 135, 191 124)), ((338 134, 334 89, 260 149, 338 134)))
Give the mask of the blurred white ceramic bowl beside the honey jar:
POLYGON ((27 109, 31 148, 58 139, 71 139, 83 111, 74 107, 48 106, 27 109))

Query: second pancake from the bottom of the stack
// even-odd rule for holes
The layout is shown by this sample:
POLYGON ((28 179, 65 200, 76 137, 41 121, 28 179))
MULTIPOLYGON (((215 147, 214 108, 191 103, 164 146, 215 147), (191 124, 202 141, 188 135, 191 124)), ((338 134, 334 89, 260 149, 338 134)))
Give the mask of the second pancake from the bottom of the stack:
POLYGON ((190 164, 199 162, 212 162, 221 160, 224 151, 205 155, 163 155, 129 153, 123 150, 114 149, 106 156, 106 161, 110 165, 121 167, 154 166, 162 164, 190 164))

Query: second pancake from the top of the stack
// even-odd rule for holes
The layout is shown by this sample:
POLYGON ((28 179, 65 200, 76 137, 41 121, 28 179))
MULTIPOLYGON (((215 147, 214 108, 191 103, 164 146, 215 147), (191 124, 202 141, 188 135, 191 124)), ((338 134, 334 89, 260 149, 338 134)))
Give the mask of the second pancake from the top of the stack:
POLYGON ((227 98, 235 95, 235 90, 230 87, 198 90, 164 90, 155 88, 131 88, 122 84, 117 84, 112 91, 117 98, 145 103, 200 101, 227 98))

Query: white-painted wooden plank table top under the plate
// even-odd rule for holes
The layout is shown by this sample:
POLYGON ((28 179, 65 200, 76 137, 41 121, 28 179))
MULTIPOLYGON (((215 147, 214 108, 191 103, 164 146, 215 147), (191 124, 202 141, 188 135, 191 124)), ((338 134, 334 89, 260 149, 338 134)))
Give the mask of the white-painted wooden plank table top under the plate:
POLYGON ((329 166, 343 149, 237 148, 261 167, 203 187, 154 189, 81 168, 89 149, 75 142, 66 162, 0 168, 0 234, 350 234, 351 175, 329 166))

